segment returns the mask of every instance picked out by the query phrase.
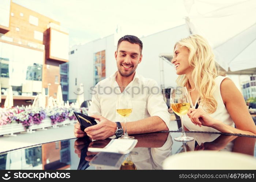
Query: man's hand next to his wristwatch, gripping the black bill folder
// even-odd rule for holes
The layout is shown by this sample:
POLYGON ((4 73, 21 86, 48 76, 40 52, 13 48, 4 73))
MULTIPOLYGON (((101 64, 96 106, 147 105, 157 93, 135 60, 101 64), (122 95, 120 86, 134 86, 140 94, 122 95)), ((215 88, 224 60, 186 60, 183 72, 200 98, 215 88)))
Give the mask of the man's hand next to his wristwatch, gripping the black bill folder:
POLYGON ((94 140, 104 140, 115 134, 116 123, 103 116, 91 115, 91 117, 99 120, 99 124, 85 128, 86 134, 94 140))

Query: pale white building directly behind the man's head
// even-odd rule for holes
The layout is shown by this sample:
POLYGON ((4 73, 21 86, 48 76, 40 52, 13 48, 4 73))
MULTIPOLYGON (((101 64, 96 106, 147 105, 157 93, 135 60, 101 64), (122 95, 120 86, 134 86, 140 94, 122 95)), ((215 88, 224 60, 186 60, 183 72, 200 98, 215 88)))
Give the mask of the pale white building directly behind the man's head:
MULTIPOLYGON (((173 46, 188 35, 184 24, 140 37, 143 58, 136 70, 138 74, 155 79, 162 88, 176 86, 177 75, 170 64, 173 46)), ((85 100, 90 100, 95 84, 117 71, 114 58, 117 40, 113 34, 69 49, 69 100, 75 100, 80 94, 84 94, 85 100), (80 83, 83 83, 83 93, 80 83)))

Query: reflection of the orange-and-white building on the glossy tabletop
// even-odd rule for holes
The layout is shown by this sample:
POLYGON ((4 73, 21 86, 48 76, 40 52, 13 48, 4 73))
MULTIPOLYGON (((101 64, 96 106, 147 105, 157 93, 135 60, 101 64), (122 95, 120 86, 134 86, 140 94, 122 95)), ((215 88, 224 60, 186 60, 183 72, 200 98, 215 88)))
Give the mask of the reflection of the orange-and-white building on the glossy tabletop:
POLYGON ((0 169, 68 169, 69 140, 45 143, 35 147, 0 154, 0 169))

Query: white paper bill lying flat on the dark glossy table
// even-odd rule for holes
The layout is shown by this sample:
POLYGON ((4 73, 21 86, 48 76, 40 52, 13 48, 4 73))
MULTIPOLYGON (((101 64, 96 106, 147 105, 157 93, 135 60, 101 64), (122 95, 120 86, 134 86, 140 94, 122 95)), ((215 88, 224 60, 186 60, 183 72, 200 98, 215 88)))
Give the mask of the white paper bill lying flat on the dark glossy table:
POLYGON ((110 152, 118 154, 128 154, 136 146, 137 139, 112 139, 104 148, 89 147, 90 152, 110 152))

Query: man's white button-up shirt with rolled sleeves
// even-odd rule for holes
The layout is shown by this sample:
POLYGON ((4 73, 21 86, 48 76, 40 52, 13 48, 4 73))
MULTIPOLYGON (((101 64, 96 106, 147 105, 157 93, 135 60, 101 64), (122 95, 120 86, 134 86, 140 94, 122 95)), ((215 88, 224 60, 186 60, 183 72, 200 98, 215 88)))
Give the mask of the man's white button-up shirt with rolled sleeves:
POLYGON ((169 128, 170 114, 157 82, 135 72, 133 80, 121 93, 116 75, 117 72, 94 87, 88 115, 96 114, 112 122, 123 122, 123 118, 116 111, 116 103, 121 94, 129 94, 132 100, 132 113, 127 122, 158 116, 169 128))

